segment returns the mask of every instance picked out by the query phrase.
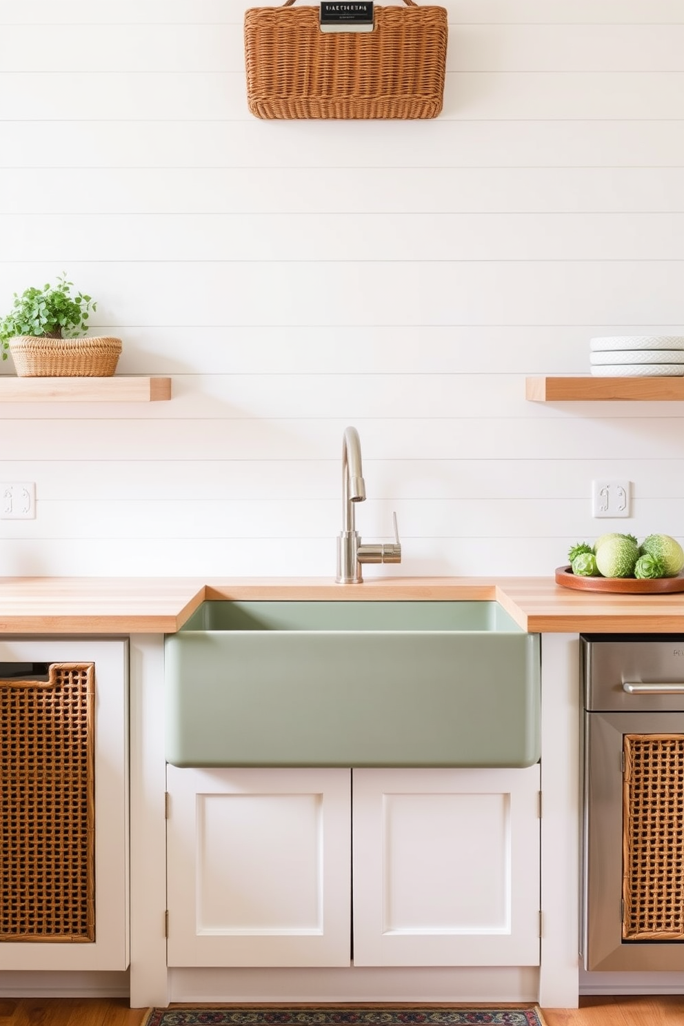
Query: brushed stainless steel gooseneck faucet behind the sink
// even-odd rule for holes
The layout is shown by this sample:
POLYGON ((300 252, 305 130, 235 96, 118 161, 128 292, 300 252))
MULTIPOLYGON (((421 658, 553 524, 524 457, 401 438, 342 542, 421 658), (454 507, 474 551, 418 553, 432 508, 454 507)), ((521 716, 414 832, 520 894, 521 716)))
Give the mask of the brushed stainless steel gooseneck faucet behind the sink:
POLYGON ((347 428, 343 438, 343 529, 337 538, 337 584, 361 584, 362 563, 401 562, 396 513, 393 514, 394 544, 361 545, 356 530, 354 504, 364 502, 365 498, 359 432, 356 428, 347 428))

